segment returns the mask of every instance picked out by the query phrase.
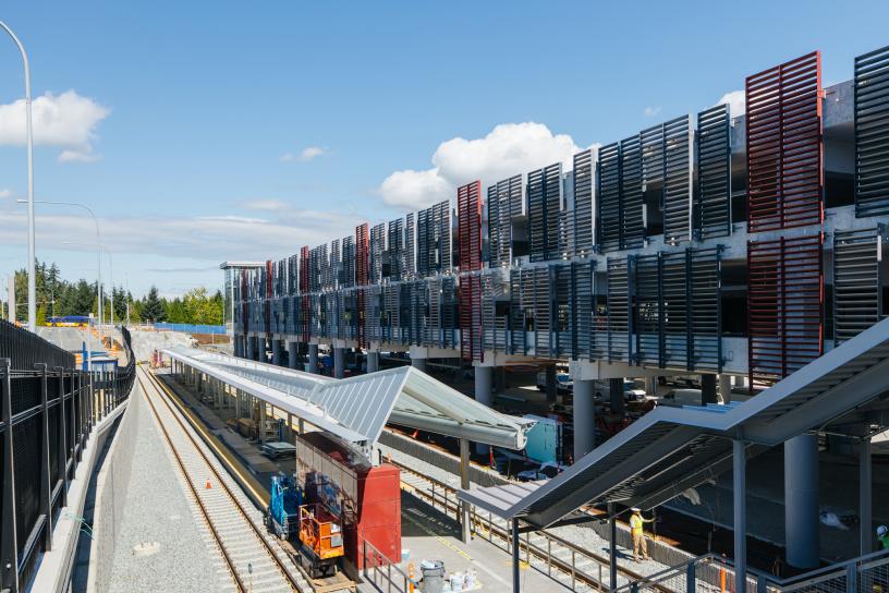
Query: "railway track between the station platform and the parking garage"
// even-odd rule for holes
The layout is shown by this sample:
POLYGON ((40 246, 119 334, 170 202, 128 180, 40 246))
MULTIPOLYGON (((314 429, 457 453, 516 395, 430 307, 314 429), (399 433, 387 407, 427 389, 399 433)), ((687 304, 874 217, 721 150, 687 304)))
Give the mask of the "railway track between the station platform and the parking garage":
MULTIPOLYGON (((397 461, 389 463, 402 471, 402 488, 429 506, 459 521, 460 508, 456 489, 397 461)), ((482 515, 474 508, 471 513, 476 536, 511 550, 512 535, 509 522, 491 515, 482 515)), ((547 531, 527 532, 520 536, 521 559, 531 568, 547 574, 569 591, 608 591, 608 557, 583 549, 547 531)), ((625 567, 618 567, 618 585, 644 579, 625 567)), ((646 591, 674 593, 662 585, 649 585, 646 591)))

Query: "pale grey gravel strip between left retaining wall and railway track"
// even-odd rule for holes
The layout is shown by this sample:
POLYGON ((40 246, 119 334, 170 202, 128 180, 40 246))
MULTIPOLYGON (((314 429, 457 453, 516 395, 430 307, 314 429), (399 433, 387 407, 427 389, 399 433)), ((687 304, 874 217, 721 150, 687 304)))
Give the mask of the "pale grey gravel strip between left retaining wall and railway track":
POLYGON ((138 413, 136 453, 126 489, 126 512, 118 520, 117 552, 108 591, 218 591, 230 580, 218 573, 206 528, 174 469, 138 385, 130 406, 138 413))

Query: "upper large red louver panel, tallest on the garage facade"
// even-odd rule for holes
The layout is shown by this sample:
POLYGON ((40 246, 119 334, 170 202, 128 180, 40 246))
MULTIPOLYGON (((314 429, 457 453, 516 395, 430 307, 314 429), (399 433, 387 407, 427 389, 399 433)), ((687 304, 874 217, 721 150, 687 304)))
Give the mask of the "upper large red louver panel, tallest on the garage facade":
POLYGON ((824 221, 821 55, 746 81, 750 232, 824 221))

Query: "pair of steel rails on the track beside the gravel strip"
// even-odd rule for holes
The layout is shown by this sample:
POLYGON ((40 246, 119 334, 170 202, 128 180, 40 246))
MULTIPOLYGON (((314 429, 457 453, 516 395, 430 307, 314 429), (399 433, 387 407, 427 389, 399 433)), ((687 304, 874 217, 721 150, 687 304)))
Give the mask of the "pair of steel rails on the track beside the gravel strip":
MULTIPOLYGON (((275 566, 278 568, 278 570, 281 572, 281 574, 284 577, 284 580, 288 582, 290 588, 293 591, 303 592, 304 591, 303 586, 296 581, 296 579, 293 577, 291 571, 288 570, 288 568, 284 566, 284 564, 278 557, 278 554, 276 554, 276 552, 272 549, 271 545, 269 545, 269 543, 266 541, 266 538, 264 537, 263 532, 259 530, 259 528, 256 527, 256 523, 254 523, 254 521, 251 519, 251 517, 247 513, 246 509, 244 509, 243 505, 234 496, 234 493, 232 493, 229 485, 226 484, 226 481, 222 479, 222 475, 219 473, 219 471, 216 469, 214 463, 210 461, 210 459, 207 457, 207 455, 200 448, 199 444, 195 440, 195 438, 188 432, 187 427, 182 422, 182 419, 180 417, 180 414, 178 413, 176 410, 174 410, 173 406, 171 406, 171 403, 169 402, 169 400, 168 400, 169 395, 167 395, 166 390, 162 389, 162 387, 159 385, 159 380, 157 379, 157 377, 154 377, 150 373, 148 373, 146 371, 144 371, 144 373, 148 376, 148 383, 160 395, 161 401, 167 407, 167 409, 170 411, 171 415, 176 421, 179 426, 182 428, 182 432, 185 434, 188 441, 194 446, 195 451, 197 451, 197 453, 200 456, 200 458, 207 464, 210 472, 216 477, 216 481, 222 486, 223 492, 228 495, 229 499, 232 501, 234 507, 238 509, 238 511, 240 512, 240 515, 243 518, 244 522, 247 525, 249 525, 251 531, 253 532, 253 534, 256 536, 256 538, 261 544, 263 550, 272 559, 275 566)), ((139 385, 143 387, 143 389, 145 388, 145 383, 142 380, 141 377, 139 377, 139 385)), ((200 501, 200 499, 198 497, 198 494, 197 494, 197 489, 196 489, 194 483, 192 482, 191 476, 188 476, 188 474, 187 474, 187 472, 185 470, 184 462, 180 458, 180 456, 179 456, 179 453, 178 453, 178 451, 175 449, 175 446, 173 445, 172 439, 171 439, 169 433, 167 432, 167 427, 165 426, 163 421, 160 419, 160 414, 158 414, 157 409, 155 408, 154 402, 151 402, 150 398, 146 398, 146 399, 148 400, 148 403, 151 407, 151 411, 154 412, 155 417, 157 419, 158 424, 160 425, 161 431, 163 432, 163 436, 165 436, 165 438, 167 440, 167 444, 170 446, 171 451, 173 451, 173 455, 174 455, 174 457, 176 459, 176 462, 180 465, 180 470, 182 471, 183 475, 185 476, 185 482, 188 484, 188 487, 190 487, 190 489, 192 492, 192 495, 194 496, 195 500, 198 504, 198 507, 200 508, 203 518, 204 518, 205 522, 207 523, 207 525, 210 528, 210 531, 214 534, 214 537, 216 538, 217 545, 219 546, 219 549, 222 553, 223 559, 226 561, 226 565, 227 565, 229 571, 232 573, 232 577, 234 578, 240 591, 242 591, 243 593, 246 593, 247 591, 249 591, 249 589, 245 585, 245 583, 243 582, 241 576, 238 572, 238 569, 234 567, 234 561, 232 560, 231 556, 229 555, 229 552, 227 550, 226 545, 222 543, 222 538, 220 537, 220 535, 216 531, 216 527, 214 525, 214 522, 212 522, 212 519, 210 518, 209 512, 207 511, 204 504, 200 501)))

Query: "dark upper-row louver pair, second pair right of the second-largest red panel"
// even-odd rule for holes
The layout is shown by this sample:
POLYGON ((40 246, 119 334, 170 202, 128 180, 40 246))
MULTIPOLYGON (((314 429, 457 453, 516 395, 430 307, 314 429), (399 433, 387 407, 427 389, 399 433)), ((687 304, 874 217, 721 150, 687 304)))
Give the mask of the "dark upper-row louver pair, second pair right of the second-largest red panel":
POLYGON ((561 162, 528 173, 527 199, 531 261, 557 259, 562 205, 561 162))

